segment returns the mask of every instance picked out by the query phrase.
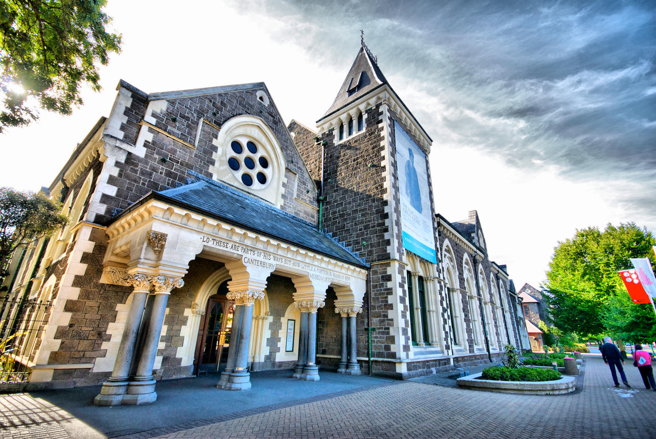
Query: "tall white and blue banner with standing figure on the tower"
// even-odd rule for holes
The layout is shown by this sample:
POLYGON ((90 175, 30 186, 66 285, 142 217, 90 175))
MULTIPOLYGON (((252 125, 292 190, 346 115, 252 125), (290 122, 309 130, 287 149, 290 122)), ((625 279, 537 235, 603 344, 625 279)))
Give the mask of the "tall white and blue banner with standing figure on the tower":
POLYGON ((394 140, 401 194, 403 248, 432 263, 437 263, 426 155, 396 121, 394 121, 394 140))

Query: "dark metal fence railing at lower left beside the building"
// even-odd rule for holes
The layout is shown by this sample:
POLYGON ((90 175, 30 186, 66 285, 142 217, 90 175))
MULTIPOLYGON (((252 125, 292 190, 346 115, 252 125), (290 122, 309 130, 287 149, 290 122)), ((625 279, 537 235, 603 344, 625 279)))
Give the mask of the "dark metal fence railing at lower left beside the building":
POLYGON ((28 364, 38 349, 51 301, 9 299, 0 301, 0 383, 26 383, 28 364))

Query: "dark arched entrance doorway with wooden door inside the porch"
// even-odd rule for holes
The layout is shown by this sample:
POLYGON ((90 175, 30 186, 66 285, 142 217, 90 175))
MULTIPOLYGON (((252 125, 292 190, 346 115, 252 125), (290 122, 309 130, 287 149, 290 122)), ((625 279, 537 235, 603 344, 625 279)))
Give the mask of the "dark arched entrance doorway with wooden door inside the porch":
POLYGON ((213 373, 225 368, 230 350, 230 332, 234 301, 228 300, 228 281, 222 282, 216 294, 207 299, 205 314, 198 326, 194 373, 213 373))

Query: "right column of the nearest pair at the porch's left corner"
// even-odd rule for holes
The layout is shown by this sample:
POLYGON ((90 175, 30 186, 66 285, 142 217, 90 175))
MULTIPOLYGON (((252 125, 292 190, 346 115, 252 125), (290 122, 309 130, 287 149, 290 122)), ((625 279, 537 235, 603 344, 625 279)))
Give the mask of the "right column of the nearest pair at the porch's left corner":
POLYGON ((159 337, 162 332, 162 324, 166 315, 166 305, 173 288, 182 288, 184 281, 180 278, 171 278, 159 275, 152 280, 155 287, 155 300, 153 302, 152 315, 148 322, 146 340, 141 351, 139 362, 136 366, 136 375, 130 381, 127 395, 123 398, 123 404, 149 404, 157 400, 155 392, 155 379, 153 379, 153 366, 157 356, 159 337))

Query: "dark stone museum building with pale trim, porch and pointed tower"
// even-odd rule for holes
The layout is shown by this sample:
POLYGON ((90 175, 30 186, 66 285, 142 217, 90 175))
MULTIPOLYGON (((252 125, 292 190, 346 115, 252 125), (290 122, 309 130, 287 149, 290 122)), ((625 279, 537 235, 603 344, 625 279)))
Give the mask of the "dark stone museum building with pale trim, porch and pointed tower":
POLYGON ((111 406, 155 401, 159 379, 407 379, 530 349, 476 211, 434 213, 432 142, 364 43, 314 128, 264 83, 121 81, 44 188, 70 222, 10 262, 11 380, 102 384, 111 406))

